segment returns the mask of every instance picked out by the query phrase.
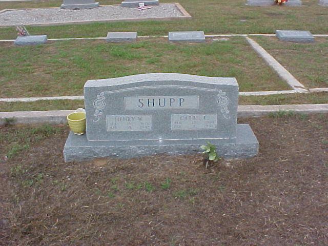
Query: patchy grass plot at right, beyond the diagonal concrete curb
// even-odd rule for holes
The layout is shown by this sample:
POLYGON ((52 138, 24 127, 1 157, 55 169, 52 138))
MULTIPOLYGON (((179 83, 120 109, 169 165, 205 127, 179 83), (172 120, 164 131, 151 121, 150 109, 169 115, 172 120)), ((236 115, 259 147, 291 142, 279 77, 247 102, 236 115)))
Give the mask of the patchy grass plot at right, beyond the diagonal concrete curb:
POLYGON ((308 88, 328 87, 328 38, 315 43, 282 42, 276 37, 253 37, 279 63, 308 88))

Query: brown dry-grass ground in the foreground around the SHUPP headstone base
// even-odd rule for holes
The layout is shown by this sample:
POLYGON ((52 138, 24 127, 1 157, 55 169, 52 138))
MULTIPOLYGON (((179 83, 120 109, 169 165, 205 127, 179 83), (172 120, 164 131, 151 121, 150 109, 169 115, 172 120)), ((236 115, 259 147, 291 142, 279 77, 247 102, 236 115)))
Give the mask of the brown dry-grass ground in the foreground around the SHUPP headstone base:
POLYGON ((208 169, 200 155, 68 164, 66 127, 1 128, 2 245, 327 245, 327 115, 238 121, 259 155, 208 169))

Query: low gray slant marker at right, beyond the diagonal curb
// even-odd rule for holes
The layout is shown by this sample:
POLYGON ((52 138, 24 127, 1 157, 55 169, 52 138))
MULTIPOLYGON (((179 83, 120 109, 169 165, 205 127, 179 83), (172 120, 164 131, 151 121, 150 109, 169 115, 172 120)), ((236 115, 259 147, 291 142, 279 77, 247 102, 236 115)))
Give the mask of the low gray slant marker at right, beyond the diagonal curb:
POLYGON ((277 30, 276 36, 282 41, 296 43, 311 43, 314 42, 314 36, 309 31, 292 31, 292 30, 277 30))

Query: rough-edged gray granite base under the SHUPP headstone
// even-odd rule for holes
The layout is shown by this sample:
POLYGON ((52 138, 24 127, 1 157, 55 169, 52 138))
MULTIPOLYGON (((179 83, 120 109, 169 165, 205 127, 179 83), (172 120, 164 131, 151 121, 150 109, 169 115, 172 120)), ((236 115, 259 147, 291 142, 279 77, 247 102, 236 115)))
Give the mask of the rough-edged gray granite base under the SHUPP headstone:
POLYGON ((224 158, 248 158, 257 155, 259 144, 247 124, 237 125, 237 138, 204 140, 132 140, 88 141, 86 135, 70 132, 64 147, 65 161, 83 161, 98 157, 133 158, 154 154, 186 155, 200 153, 207 141, 216 145, 224 158), (222 141, 223 140, 223 141, 222 141))

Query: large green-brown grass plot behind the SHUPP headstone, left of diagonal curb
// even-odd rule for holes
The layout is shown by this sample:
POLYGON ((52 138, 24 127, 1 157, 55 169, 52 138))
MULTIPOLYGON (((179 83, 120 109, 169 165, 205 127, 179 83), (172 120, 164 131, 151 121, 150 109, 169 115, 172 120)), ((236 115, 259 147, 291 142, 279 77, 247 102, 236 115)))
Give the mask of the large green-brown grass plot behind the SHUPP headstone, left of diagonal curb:
POLYGON ((160 72, 236 77, 240 91, 289 90, 243 37, 207 44, 172 44, 165 38, 3 44, 0 53, 1 97, 83 95, 88 79, 160 72))

